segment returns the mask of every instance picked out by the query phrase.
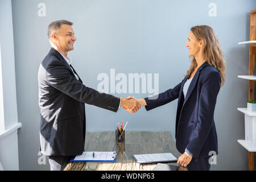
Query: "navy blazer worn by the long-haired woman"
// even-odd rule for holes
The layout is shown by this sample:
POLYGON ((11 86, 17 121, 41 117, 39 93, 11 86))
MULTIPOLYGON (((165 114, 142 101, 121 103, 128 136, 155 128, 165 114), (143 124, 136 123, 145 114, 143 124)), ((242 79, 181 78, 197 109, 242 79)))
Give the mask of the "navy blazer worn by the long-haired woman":
POLYGON ((177 150, 186 151, 193 158, 218 154, 214 108, 220 90, 221 76, 207 61, 197 69, 184 99, 183 86, 187 77, 173 89, 145 98, 146 110, 154 109, 179 98, 177 103, 175 138, 177 150))

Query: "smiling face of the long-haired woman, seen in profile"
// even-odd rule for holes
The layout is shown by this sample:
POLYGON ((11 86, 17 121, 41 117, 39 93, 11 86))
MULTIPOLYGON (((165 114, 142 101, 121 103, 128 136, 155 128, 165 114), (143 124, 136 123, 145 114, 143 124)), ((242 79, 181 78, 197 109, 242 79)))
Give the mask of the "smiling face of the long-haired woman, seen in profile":
POLYGON ((202 47, 200 40, 197 39, 192 32, 189 32, 188 34, 188 42, 186 47, 188 48, 189 56, 194 56, 194 57, 198 55, 202 47))

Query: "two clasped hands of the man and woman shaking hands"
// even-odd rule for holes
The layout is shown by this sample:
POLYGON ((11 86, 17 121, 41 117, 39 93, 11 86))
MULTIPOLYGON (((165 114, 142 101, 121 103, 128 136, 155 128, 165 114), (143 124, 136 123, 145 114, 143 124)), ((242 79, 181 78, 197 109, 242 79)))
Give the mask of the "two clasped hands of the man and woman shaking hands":
POLYGON ((121 98, 121 106, 123 109, 127 110, 129 113, 136 113, 139 109, 141 109, 141 106, 146 106, 147 103, 144 100, 144 98, 141 98, 137 100, 135 97, 127 97, 127 98, 121 98))

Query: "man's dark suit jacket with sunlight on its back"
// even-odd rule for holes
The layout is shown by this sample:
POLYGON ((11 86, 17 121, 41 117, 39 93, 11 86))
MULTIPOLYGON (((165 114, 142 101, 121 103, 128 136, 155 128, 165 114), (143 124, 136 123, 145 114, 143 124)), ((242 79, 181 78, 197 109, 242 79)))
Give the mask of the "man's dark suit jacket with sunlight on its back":
POLYGON ((85 142, 84 103, 116 112, 120 98, 77 80, 67 61, 51 48, 38 72, 40 147, 44 155, 80 155, 85 142))

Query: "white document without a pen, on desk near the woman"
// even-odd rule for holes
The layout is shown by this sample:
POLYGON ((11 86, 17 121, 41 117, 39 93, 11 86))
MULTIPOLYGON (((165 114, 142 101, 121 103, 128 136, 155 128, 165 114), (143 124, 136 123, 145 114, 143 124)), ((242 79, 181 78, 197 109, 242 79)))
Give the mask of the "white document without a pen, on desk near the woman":
POLYGON ((133 155, 137 163, 175 162, 177 158, 171 153, 133 155))

